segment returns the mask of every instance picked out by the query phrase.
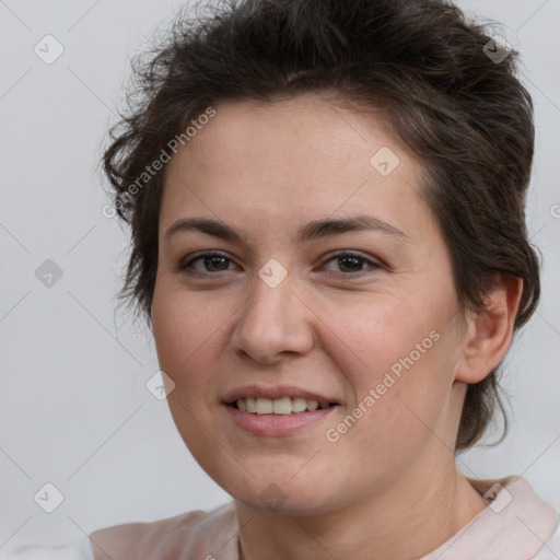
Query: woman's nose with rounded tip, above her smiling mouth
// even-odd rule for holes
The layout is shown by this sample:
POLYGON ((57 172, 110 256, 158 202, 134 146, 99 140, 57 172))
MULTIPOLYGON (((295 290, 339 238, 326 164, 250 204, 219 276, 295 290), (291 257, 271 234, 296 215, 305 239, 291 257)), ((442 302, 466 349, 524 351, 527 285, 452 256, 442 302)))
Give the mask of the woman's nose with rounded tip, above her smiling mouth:
POLYGON ((258 275, 249 287, 250 296, 240 311, 230 343, 237 355, 275 364, 285 354, 304 354, 313 347, 314 314, 294 293, 288 275, 271 288, 258 275))

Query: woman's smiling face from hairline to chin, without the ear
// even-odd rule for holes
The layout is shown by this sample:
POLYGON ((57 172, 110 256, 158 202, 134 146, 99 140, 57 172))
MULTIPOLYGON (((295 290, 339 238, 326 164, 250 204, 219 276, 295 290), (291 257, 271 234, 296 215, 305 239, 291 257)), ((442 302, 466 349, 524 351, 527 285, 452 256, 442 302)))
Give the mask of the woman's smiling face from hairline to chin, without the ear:
POLYGON ((318 96, 214 108, 167 164, 160 214, 152 324, 183 440, 253 508, 334 510, 433 474, 465 385, 420 163, 318 96), (252 397, 262 413, 235 408, 252 397), (312 400, 330 406, 284 413, 312 400))

